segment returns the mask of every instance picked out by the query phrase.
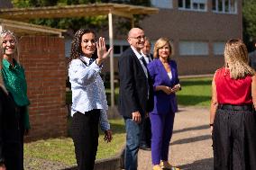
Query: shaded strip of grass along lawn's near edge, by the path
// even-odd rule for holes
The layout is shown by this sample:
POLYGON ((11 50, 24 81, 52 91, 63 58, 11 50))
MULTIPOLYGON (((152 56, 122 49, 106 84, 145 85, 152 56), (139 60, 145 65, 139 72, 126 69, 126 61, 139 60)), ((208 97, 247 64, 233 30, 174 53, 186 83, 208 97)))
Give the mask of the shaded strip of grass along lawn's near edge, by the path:
POLYGON ((211 96, 197 96, 197 95, 178 95, 178 104, 180 105, 197 105, 211 100, 211 96))

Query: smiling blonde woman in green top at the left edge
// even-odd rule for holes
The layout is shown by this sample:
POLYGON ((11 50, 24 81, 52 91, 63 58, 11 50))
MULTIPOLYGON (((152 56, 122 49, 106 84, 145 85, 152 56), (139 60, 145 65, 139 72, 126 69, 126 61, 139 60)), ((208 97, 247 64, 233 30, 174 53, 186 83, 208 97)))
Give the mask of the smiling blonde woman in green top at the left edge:
MULTIPOLYGON (((12 95, 14 103, 16 104, 15 110, 20 120, 20 135, 23 149, 23 135, 30 129, 28 114, 28 105, 30 102, 27 97, 25 73, 23 67, 18 62, 18 41, 14 33, 12 31, 1 31, 0 40, 1 48, 3 49, 3 54, 1 55, 1 59, 3 59, 1 72, 6 90, 12 95)), ((23 167, 20 169, 23 170, 23 167)))

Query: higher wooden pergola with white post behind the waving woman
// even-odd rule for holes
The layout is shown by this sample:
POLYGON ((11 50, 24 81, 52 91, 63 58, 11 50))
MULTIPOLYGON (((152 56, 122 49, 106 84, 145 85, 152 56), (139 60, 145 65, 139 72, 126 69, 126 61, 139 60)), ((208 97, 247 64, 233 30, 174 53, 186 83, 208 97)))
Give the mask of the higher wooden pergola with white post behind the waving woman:
MULTIPOLYGON (((130 4, 78 4, 64 6, 32 7, 32 8, 9 8, 0 9, 0 18, 28 22, 37 18, 73 18, 96 15, 108 15, 109 45, 113 42, 113 20, 112 15, 118 15, 132 20, 134 14, 158 13, 158 8, 130 5, 130 4)), ((114 58, 113 51, 110 54, 110 78, 111 78, 111 106, 114 107, 114 58)))

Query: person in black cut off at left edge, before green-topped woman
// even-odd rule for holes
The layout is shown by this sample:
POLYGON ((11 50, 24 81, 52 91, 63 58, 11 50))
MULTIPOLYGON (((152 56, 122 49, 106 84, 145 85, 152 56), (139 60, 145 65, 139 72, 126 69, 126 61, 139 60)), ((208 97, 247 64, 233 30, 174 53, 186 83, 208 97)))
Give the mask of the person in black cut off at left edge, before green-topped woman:
MULTIPOLYGON (((2 80, 2 76, 0 78, 2 80)), ((1 81, 0 80, 0 81, 1 81)), ((23 148, 21 143, 20 119, 15 111, 15 103, 0 83, 0 170, 21 170, 23 168, 23 148)))

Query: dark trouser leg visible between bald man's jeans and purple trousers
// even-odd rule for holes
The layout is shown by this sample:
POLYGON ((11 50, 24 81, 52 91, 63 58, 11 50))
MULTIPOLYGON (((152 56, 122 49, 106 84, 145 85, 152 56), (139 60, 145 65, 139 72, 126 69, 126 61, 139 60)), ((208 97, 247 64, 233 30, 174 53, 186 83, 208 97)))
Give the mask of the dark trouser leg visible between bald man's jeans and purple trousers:
POLYGON ((150 119, 150 117, 147 117, 142 121, 141 146, 142 145, 151 147, 151 119, 150 119))

